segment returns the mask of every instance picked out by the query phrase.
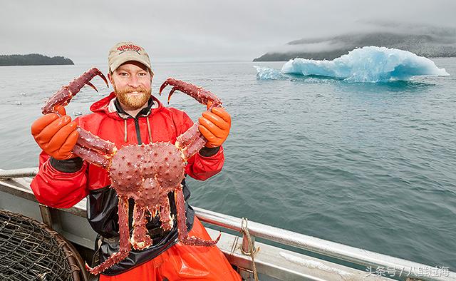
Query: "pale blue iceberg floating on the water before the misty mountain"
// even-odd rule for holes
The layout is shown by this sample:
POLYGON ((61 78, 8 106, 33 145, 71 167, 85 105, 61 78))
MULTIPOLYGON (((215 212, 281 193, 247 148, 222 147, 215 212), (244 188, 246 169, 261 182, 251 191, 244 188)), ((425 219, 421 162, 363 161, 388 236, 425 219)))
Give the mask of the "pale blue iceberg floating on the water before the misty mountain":
MULTIPOLYGON (((299 76, 326 76, 348 82, 377 83, 409 81, 414 76, 449 76, 429 58, 396 48, 366 46, 356 48, 332 61, 294 58, 282 66, 280 73, 299 76)), ((279 78, 271 68, 257 67, 257 78, 279 78), (272 74, 272 75, 271 75, 272 74)))

